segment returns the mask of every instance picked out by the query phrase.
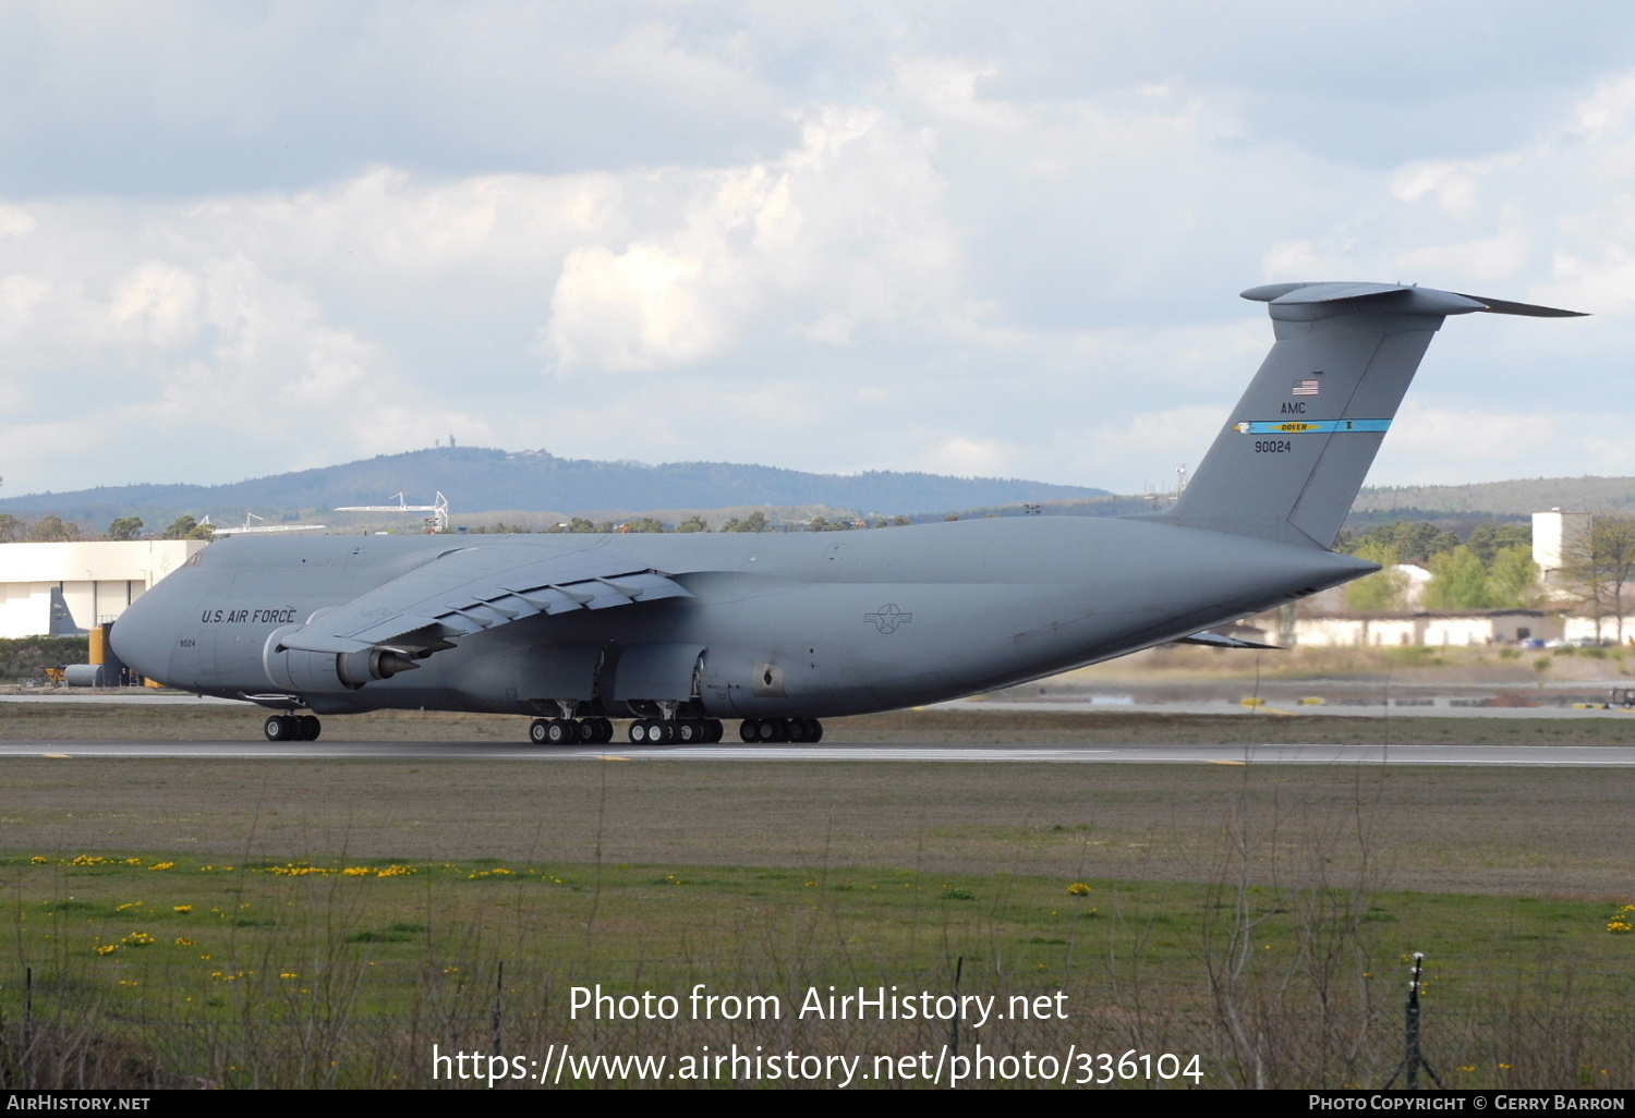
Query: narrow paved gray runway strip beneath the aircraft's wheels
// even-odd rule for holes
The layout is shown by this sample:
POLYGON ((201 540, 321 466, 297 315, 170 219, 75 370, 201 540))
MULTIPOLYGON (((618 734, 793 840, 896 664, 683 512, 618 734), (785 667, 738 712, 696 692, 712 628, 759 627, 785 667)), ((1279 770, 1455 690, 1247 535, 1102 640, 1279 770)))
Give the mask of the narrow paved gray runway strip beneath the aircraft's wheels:
POLYGON ((608 745, 508 742, 0 742, 0 758, 1450 765, 1628 768, 1625 745, 608 745))

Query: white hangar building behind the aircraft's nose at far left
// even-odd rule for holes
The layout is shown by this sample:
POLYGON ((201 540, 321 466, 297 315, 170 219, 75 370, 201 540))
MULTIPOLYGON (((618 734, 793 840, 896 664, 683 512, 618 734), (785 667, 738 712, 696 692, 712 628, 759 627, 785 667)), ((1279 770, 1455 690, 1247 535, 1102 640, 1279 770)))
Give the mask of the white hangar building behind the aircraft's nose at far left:
POLYGON ((0 544, 0 637, 49 634, 52 590, 62 592, 80 629, 118 621, 203 546, 203 539, 0 544))

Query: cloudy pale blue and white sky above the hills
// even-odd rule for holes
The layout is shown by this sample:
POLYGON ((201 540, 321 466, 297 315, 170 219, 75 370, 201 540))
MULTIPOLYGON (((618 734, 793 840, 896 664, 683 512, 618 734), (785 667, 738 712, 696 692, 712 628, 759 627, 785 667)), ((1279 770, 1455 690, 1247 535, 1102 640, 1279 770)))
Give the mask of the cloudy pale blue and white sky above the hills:
POLYGON ((450 435, 1135 492, 1285 280, 1594 314, 1450 320, 1370 484, 1635 474, 1635 5, 0 0, 5 494, 450 435))

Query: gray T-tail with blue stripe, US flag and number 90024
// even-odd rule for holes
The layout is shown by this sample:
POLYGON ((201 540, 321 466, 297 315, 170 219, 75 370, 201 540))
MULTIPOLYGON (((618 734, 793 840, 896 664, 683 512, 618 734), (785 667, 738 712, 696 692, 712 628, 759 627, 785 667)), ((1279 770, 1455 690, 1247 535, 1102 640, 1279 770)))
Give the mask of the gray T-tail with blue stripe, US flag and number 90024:
POLYGON ((1385 283, 1274 283, 1277 343, 1167 518, 1190 528, 1329 548, 1450 314, 1579 317, 1385 283))

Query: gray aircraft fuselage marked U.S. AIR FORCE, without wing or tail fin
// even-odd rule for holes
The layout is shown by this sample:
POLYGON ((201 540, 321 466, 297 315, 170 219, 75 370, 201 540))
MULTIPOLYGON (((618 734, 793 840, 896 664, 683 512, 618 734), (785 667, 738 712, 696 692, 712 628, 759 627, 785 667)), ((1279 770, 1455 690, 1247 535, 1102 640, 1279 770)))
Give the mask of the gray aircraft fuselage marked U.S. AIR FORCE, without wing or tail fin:
MULTIPOLYGON (((611 564, 616 567, 618 564, 611 564)), ((610 569, 611 569, 610 567, 610 569)), ((304 706, 826 718, 934 703, 1172 641, 1373 570, 1161 520, 1028 517, 847 533, 237 538, 137 600, 114 649, 177 688, 304 706), (687 595, 522 616, 389 678, 275 651, 456 549, 639 556, 687 595)))

